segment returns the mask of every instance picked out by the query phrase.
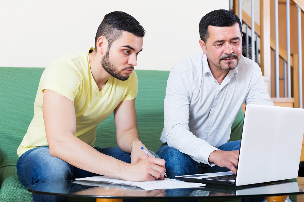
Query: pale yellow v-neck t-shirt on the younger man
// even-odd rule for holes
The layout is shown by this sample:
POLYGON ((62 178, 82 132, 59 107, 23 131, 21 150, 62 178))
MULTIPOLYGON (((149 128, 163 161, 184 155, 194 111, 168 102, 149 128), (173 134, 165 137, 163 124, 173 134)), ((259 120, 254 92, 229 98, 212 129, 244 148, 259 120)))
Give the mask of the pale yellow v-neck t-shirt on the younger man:
POLYGON ((34 103, 33 120, 17 150, 19 157, 35 147, 48 146, 42 114, 44 89, 60 93, 74 102, 75 136, 91 146, 96 139, 97 125, 105 120, 121 101, 136 98, 138 82, 135 71, 126 81, 109 78, 99 91, 90 69, 90 50, 93 48, 85 53, 63 56, 44 70, 34 103))

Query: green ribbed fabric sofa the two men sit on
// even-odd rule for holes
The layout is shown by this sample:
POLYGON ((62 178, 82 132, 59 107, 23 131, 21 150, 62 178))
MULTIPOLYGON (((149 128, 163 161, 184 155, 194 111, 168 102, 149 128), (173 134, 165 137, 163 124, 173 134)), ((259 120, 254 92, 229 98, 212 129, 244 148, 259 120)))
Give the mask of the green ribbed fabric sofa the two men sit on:
MULTIPOLYGON (((0 201, 33 201, 16 173, 16 150, 33 118, 33 105, 44 68, 0 67, 0 201)), ((164 127, 164 97, 169 71, 136 70, 136 113, 140 139, 156 152, 164 127)), ((172 103, 174 104, 174 103, 172 103)), ((244 114, 240 110, 232 126, 231 140, 239 140, 244 114)), ((113 114, 98 125, 97 147, 117 146, 113 114)), ((83 198, 69 198, 69 201, 83 198)), ((85 199, 88 201, 92 199, 85 199)), ((92 200, 94 201, 94 200, 92 200)))

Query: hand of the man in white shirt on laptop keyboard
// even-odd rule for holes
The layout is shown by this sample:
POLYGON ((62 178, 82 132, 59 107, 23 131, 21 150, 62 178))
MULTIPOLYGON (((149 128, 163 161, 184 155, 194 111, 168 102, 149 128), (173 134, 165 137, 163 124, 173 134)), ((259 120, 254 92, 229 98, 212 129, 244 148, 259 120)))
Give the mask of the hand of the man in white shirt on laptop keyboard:
POLYGON ((231 170, 234 174, 237 173, 237 169, 235 166, 239 163, 239 150, 236 151, 221 151, 215 150, 213 151, 208 161, 214 162, 219 167, 227 167, 231 170))

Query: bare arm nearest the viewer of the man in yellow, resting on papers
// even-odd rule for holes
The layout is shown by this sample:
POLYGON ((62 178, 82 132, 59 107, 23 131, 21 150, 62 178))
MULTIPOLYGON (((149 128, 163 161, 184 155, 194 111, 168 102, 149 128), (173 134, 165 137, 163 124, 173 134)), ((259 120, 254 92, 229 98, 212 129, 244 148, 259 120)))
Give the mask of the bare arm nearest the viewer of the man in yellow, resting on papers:
MULTIPOLYGON (((138 175, 134 178, 136 169, 133 169, 131 164, 99 153, 92 146, 75 137, 74 103, 59 93, 48 89, 44 90, 43 119, 52 156, 75 167, 100 175, 118 177, 124 180, 155 180, 155 177, 148 174, 138 175)), ((149 164, 150 162, 142 162, 142 167, 146 166, 145 163, 149 164)), ((140 170, 145 170, 137 164, 134 166, 140 170)))

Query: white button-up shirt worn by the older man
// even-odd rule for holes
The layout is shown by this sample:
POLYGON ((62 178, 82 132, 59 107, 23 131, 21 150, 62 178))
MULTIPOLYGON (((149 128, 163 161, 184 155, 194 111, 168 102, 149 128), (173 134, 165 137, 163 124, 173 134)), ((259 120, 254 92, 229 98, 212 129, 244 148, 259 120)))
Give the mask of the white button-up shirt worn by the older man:
POLYGON ((160 140, 209 164, 210 153, 230 139, 232 123, 244 102, 273 105, 255 62, 242 56, 219 85, 205 54, 188 56, 170 71, 160 140))

